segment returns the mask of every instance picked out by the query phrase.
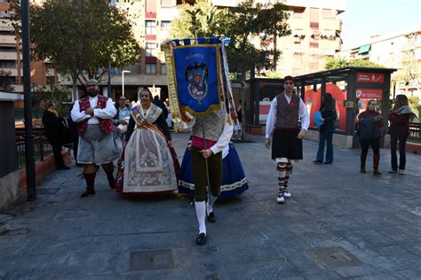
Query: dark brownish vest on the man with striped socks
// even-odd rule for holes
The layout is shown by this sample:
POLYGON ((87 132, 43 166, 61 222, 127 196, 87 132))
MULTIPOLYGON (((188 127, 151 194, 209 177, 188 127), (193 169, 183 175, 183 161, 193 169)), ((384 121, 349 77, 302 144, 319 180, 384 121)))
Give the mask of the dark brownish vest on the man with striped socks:
POLYGON ((290 104, 288 104, 285 94, 282 92, 276 96, 276 128, 299 128, 298 112, 299 112, 299 97, 293 94, 291 96, 290 104))

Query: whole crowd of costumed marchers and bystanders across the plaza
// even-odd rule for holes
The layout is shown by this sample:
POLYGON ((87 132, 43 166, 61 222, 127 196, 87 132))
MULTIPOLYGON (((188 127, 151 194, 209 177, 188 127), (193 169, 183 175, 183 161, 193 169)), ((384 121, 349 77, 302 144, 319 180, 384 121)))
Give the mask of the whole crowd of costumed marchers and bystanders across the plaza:
MULTIPOLYGON (((288 185, 293 163, 303 159, 302 139, 310 124, 306 105, 293 90, 294 78, 286 76, 283 91, 272 100, 266 121, 265 144, 267 149, 272 148, 276 166, 278 203, 291 197, 288 185)), ((149 89, 142 89, 139 96, 138 103, 130 105, 122 96, 114 105, 111 98, 99 93, 98 81, 91 79, 86 83, 86 95, 73 105, 69 121, 77 129, 75 159, 83 166, 86 183, 81 198, 95 194, 99 166, 107 175, 109 187, 120 193, 155 194, 176 190, 186 193, 195 200, 199 229, 195 241, 197 245, 203 245, 207 237, 206 221, 216 222, 213 211, 215 201, 233 198, 249 188, 241 159, 231 142, 234 123, 224 106, 205 117, 192 118, 186 123, 192 132, 180 167, 171 144, 168 107, 159 98, 154 98, 149 89)), ((377 113, 376 106, 376 100, 369 100, 367 110, 357 116, 356 128, 361 144, 360 172, 367 172, 366 159, 371 146, 372 172, 381 175, 378 169, 379 149, 385 121, 382 114, 377 113)), ((236 112, 241 115, 241 105, 236 107, 236 112)), ((334 123, 338 113, 330 93, 322 95, 319 112, 322 124, 319 126, 320 141, 314 163, 331 164, 334 159, 334 123)), ((391 122, 390 173, 404 174, 405 144, 412 115, 408 98, 398 95, 388 116, 391 122), (399 164, 396 155, 398 144, 399 164)), ((60 118, 53 100, 45 105, 43 122, 45 135, 52 144, 56 167, 68 169, 61 157, 62 143, 59 139, 68 122, 60 118)), ((237 124, 235 130, 238 132, 240 128, 237 124)), ((239 133, 241 135, 241 130, 239 133)))

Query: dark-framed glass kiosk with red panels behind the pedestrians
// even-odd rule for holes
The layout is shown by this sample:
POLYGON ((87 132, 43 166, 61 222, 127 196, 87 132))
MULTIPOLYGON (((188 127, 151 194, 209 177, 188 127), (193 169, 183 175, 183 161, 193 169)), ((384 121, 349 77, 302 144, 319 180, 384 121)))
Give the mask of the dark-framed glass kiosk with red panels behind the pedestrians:
MULTIPOLYGON (((308 138, 318 141, 318 128, 313 114, 319 111, 322 94, 329 92, 336 101, 338 119, 333 143, 351 149, 358 147, 355 136, 355 118, 366 109, 370 99, 377 100, 377 111, 387 124, 390 106, 391 74, 396 69, 371 67, 344 67, 295 77, 296 93, 304 100, 310 114, 308 138)), ((254 79, 250 81, 250 98, 254 104, 251 115, 255 126, 266 124, 271 100, 282 92, 281 79, 254 79), (253 102, 254 101, 254 102, 253 102)), ((387 125, 385 125, 387 127, 387 125)))

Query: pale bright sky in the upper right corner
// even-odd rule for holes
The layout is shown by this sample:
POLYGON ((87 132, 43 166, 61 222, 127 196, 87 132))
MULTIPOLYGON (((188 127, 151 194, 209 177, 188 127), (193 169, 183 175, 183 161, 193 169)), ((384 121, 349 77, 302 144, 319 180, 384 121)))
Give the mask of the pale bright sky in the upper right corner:
POLYGON ((342 50, 369 43, 371 35, 421 30, 421 0, 346 0, 342 50))

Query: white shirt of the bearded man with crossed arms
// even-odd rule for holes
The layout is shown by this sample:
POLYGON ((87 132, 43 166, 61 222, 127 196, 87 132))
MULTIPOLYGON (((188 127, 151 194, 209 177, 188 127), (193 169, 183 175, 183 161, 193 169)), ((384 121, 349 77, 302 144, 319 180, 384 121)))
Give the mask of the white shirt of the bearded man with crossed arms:
POLYGON ((89 97, 89 103, 91 105, 91 108, 94 108, 93 116, 85 113, 84 111, 80 112, 79 100, 75 101, 71 112, 73 121, 81 122, 86 119, 89 119, 88 124, 98 124, 98 118, 104 120, 113 119, 115 113, 117 113, 117 110, 115 109, 115 105, 113 104, 113 100, 111 98, 107 99, 107 105, 104 109, 96 108, 98 104, 98 95, 96 97, 89 97))

